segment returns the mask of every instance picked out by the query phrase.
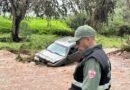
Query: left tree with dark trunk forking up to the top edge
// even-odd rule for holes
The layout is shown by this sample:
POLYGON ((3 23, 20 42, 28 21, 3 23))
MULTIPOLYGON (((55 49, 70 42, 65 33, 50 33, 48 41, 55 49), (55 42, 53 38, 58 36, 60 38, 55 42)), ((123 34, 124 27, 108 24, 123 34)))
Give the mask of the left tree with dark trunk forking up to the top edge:
POLYGON ((29 7, 29 0, 9 0, 12 8, 12 40, 19 42, 19 26, 29 7))

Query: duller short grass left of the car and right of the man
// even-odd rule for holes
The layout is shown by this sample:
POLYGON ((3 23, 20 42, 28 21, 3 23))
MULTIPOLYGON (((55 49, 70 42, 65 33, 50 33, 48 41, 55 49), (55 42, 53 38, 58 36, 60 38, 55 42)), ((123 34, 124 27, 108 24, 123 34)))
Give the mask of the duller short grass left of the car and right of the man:
MULTIPOLYGON (((10 34, 0 34, 0 38, 10 38, 10 34)), ((49 44, 54 42, 56 39, 61 38, 61 36, 51 35, 51 34, 31 34, 29 37, 29 41, 23 41, 20 43, 12 42, 0 42, 0 49, 15 49, 19 50, 27 49, 27 50, 42 50, 46 48, 49 44)), ((97 35, 96 41, 98 44, 102 44, 105 48, 120 48, 121 38, 119 37, 104 37, 101 35, 97 35)))

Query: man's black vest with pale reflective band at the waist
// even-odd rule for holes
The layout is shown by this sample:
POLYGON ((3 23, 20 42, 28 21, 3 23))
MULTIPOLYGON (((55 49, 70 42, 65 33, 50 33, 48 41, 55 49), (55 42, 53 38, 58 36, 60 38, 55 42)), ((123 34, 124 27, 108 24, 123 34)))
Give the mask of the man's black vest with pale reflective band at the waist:
POLYGON ((101 79, 99 86, 104 86, 104 90, 109 90, 111 80, 111 64, 105 52, 102 48, 93 48, 88 54, 86 54, 81 62, 78 64, 75 73, 72 86, 69 90, 82 90, 83 83, 83 68, 85 63, 90 59, 94 58, 100 65, 101 68, 101 79))

